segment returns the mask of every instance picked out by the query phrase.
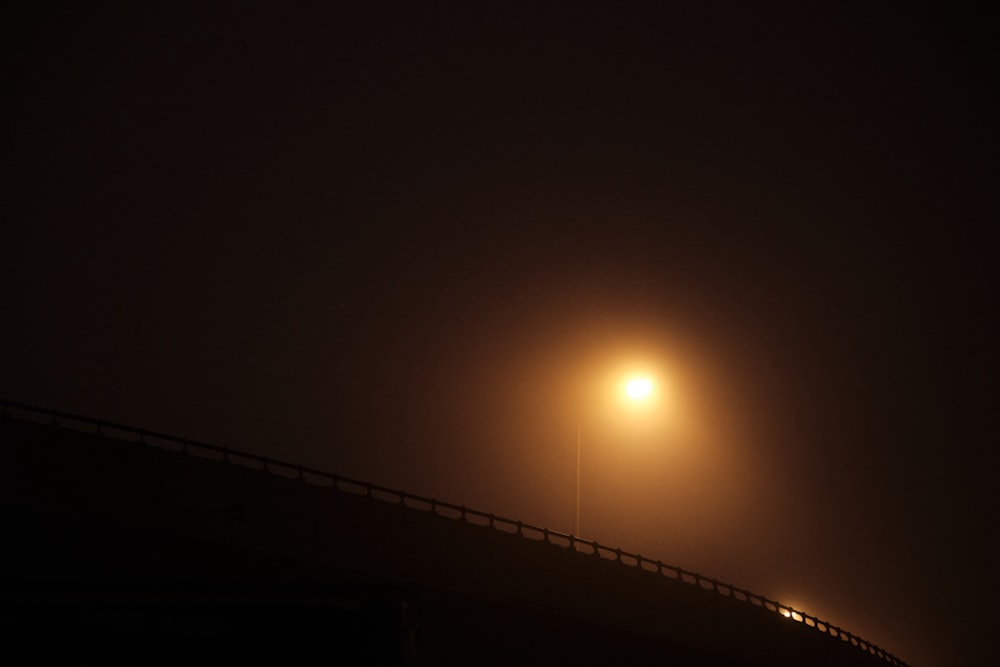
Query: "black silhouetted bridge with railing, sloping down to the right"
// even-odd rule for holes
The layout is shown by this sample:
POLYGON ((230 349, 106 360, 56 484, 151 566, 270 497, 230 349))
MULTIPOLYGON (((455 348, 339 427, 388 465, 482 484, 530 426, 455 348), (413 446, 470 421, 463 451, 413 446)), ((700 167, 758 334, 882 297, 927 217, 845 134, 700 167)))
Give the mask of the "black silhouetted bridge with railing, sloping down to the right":
POLYGON ((802 610, 593 540, 164 433, 2 409, 2 621, 9 641, 43 651, 905 666, 802 610))

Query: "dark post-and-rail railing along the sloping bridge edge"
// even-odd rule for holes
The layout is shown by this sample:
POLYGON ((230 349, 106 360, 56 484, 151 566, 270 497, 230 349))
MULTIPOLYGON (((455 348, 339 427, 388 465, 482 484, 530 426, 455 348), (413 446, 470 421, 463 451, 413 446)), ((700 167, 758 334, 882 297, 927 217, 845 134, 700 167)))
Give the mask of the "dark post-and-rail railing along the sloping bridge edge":
POLYGON ((38 408, 31 405, 16 403, 13 401, 0 401, 2 405, 2 417, 18 419, 20 421, 47 422, 59 428, 68 428, 76 431, 84 431, 92 428, 90 433, 118 437, 128 440, 129 436, 134 438, 136 444, 160 447, 171 451, 179 451, 194 454, 203 458, 225 461, 233 465, 240 465, 247 468, 260 470, 272 475, 285 477, 288 479, 298 479, 304 483, 328 486, 334 490, 352 493, 355 495, 367 496, 373 500, 391 502, 406 506, 411 509, 421 510, 436 514, 441 517, 455 519, 470 524, 488 526, 495 530, 521 536, 525 539, 540 541, 557 547, 572 549, 578 553, 591 554, 605 560, 612 560, 626 567, 635 567, 647 572, 656 573, 661 576, 674 579, 676 581, 695 586, 706 592, 714 592, 718 595, 730 597, 739 602, 760 607, 767 611, 780 614, 790 621, 802 623, 823 634, 829 635, 843 642, 848 642, 852 646, 859 648, 875 657, 881 658, 890 665, 898 667, 908 667, 908 665, 885 649, 869 642, 857 635, 844 630, 828 621, 817 618, 806 612, 795 609, 790 605, 783 604, 777 600, 771 600, 752 593, 744 588, 739 588, 733 584, 725 583, 706 577, 705 575, 692 570, 685 570, 675 565, 668 565, 660 560, 652 560, 638 553, 623 551, 617 547, 601 544, 595 540, 588 540, 569 533, 551 530, 543 526, 536 526, 525 523, 517 519, 499 516, 492 512, 466 507, 465 505, 455 505, 436 498, 420 496, 408 493, 400 489, 392 489, 372 482, 361 481, 344 477, 336 473, 331 473, 309 466, 303 466, 289 461, 262 456, 250 452, 243 452, 220 447, 206 442, 199 442, 188 438, 181 438, 167 433, 150 431, 144 428, 136 428, 116 422, 109 422, 102 419, 84 417, 68 412, 38 408))

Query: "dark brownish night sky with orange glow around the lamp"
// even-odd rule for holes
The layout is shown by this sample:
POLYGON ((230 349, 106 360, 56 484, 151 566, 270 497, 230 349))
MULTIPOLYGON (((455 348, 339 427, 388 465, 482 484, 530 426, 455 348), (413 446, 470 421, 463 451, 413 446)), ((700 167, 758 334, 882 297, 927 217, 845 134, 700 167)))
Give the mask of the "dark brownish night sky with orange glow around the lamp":
POLYGON ((579 421, 584 536, 995 664, 987 16, 201 4, 5 19, 6 398, 564 531, 579 421))

